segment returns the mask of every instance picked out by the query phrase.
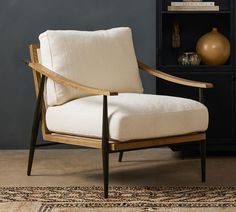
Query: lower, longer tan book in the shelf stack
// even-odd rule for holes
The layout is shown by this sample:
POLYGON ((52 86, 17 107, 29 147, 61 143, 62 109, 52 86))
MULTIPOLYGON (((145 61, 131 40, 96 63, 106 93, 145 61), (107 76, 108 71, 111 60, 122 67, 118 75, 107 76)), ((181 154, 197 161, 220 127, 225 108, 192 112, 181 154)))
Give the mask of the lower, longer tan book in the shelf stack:
POLYGON ((219 11, 219 6, 168 6, 168 11, 219 11))

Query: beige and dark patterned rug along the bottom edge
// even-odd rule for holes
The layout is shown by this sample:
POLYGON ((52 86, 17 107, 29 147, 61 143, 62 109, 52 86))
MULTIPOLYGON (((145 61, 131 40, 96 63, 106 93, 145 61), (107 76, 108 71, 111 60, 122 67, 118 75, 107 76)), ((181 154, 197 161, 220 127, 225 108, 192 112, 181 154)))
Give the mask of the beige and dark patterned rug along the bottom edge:
POLYGON ((103 198, 102 187, 0 188, 0 211, 156 211, 163 208, 236 211, 236 187, 110 187, 109 199, 103 198), (29 209, 32 205, 34 209, 29 209))

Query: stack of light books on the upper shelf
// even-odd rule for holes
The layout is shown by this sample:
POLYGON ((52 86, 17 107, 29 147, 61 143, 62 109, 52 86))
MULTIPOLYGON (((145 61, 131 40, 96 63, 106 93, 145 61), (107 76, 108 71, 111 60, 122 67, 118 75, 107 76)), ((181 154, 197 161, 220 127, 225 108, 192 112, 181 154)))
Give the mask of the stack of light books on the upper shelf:
POLYGON ((184 0, 183 2, 171 2, 168 11, 219 11, 219 6, 215 2, 202 2, 199 0, 184 0))

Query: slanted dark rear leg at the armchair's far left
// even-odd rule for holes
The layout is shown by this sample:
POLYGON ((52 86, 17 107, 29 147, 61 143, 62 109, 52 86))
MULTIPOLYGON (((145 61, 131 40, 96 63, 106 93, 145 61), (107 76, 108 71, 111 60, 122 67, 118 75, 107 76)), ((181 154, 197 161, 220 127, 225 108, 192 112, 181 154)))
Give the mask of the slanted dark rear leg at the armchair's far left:
POLYGON ((40 87, 39 87, 38 98, 36 101, 33 126, 32 126, 32 131, 31 131, 30 151, 29 151, 28 169, 27 169, 28 176, 31 174, 31 169, 32 169, 32 164, 33 164, 33 159, 34 159, 34 151, 35 151, 36 141, 38 137, 39 123, 40 123, 41 113, 42 113, 41 108, 42 108, 44 82, 45 82, 45 76, 42 76, 40 87))

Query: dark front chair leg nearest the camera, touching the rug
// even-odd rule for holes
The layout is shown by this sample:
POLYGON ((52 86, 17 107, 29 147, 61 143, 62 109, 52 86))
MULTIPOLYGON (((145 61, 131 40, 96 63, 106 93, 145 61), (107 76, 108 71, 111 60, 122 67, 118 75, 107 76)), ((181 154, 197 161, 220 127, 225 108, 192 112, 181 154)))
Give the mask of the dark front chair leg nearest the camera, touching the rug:
POLYGON ((108 126, 108 112, 107 112, 107 96, 103 96, 102 159, 103 159, 104 198, 108 198, 109 126, 108 126))

